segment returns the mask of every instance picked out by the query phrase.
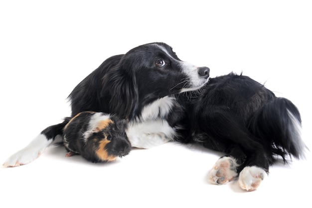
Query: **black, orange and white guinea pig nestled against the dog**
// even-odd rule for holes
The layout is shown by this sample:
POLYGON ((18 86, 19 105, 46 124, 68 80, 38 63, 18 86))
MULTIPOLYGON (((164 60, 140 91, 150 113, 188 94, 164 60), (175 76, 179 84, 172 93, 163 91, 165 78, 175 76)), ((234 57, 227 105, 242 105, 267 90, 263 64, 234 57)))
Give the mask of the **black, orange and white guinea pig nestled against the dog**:
POLYGON ((66 157, 80 154, 88 161, 99 163, 114 161, 130 153, 126 120, 90 111, 66 119, 68 123, 63 130, 63 144, 68 151, 66 157))

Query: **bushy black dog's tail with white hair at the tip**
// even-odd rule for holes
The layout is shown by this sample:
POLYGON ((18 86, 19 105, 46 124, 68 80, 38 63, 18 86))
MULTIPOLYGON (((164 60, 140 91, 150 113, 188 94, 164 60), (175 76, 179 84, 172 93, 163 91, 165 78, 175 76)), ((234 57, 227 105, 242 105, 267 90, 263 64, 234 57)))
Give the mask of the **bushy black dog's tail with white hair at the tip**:
POLYGON ((307 146, 301 136, 301 116, 298 108, 286 98, 268 101, 251 118, 249 129, 262 141, 267 141, 273 155, 297 159, 305 157, 307 146))

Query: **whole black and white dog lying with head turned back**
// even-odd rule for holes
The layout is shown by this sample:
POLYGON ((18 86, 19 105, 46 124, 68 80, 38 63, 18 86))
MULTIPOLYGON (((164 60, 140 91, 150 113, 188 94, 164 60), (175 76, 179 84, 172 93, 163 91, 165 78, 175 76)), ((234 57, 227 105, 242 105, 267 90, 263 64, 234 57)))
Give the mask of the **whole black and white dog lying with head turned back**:
MULTIPOLYGON (((207 82, 208 76, 209 68, 181 61, 164 43, 141 45, 107 59, 75 87, 69 96, 72 116, 100 111, 126 119, 133 147, 179 141, 225 152, 209 181, 226 184, 239 176, 248 191, 260 185, 276 155, 285 161, 288 155, 303 156, 301 118, 291 101, 246 76, 229 74, 207 82)), ((65 125, 43 130, 4 166, 34 160, 65 125)))

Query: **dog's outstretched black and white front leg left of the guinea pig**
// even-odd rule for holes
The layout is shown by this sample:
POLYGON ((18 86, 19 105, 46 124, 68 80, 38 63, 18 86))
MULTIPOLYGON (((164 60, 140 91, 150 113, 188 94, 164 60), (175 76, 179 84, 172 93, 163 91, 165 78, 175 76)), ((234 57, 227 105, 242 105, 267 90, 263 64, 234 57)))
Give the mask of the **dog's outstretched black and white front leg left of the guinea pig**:
POLYGON ((19 150, 4 163, 4 167, 16 167, 25 165, 36 159, 47 147, 62 142, 62 134, 69 118, 65 118, 63 123, 49 126, 34 138, 25 148, 19 150))

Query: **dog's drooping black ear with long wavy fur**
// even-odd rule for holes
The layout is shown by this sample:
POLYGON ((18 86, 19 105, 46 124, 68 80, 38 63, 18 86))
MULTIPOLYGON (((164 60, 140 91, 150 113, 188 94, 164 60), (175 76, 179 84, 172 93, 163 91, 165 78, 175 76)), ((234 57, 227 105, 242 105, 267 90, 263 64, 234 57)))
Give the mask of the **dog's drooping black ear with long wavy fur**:
POLYGON ((132 70, 117 64, 104 75, 102 86, 101 97, 110 98, 110 112, 121 118, 133 119, 138 108, 139 95, 132 70))

